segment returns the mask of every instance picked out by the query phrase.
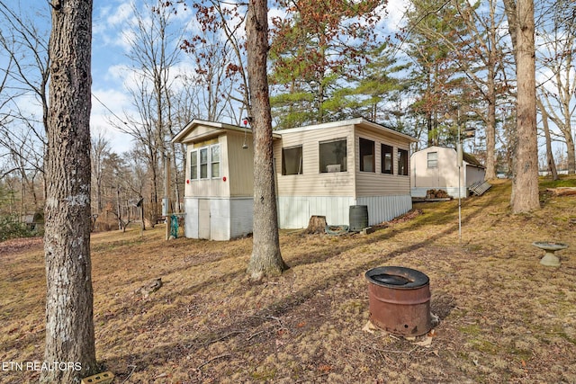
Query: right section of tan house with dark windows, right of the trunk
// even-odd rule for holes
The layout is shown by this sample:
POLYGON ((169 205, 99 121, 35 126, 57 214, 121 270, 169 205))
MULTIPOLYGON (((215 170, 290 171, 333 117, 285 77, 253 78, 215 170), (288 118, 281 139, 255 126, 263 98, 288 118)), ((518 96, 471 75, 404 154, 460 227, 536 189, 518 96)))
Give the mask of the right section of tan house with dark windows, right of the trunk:
POLYGON ((275 131, 280 228, 306 228, 313 215, 347 225, 350 206, 367 206, 368 225, 411 210, 410 143, 365 119, 275 131))

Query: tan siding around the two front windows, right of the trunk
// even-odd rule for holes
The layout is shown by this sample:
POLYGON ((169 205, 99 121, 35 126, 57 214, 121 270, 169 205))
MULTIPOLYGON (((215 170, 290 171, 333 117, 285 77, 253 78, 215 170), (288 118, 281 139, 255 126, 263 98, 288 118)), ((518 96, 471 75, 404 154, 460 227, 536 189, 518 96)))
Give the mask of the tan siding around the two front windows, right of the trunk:
POLYGON ((353 196, 354 144, 352 126, 312 129, 290 133, 277 131, 275 170, 279 196, 353 196), (347 172, 320 173, 320 141, 347 138, 347 172), (302 174, 282 175, 282 148, 302 145, 302 174))

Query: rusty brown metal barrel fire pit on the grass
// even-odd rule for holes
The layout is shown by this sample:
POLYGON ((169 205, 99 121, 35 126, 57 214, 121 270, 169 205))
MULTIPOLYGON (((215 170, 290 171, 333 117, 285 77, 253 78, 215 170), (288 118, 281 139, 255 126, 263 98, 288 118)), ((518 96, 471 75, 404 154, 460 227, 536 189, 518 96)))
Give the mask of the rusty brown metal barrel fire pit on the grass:
POLYGON ((393 335, 419 336, 432 328, 430 279, 422 272, 384 266, 365 273, 370 320, 393 335))

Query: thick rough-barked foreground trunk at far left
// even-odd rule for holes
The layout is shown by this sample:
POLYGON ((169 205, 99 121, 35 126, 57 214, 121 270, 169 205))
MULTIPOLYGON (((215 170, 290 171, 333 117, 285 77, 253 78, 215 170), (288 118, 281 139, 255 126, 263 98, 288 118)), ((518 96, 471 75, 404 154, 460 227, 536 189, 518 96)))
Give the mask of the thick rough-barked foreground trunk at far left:
POLYGON ((92 0, 55 0, 49 42, 46 259, 46 370, 41 380, 73 383, 96 371, 90 261, 92 0))

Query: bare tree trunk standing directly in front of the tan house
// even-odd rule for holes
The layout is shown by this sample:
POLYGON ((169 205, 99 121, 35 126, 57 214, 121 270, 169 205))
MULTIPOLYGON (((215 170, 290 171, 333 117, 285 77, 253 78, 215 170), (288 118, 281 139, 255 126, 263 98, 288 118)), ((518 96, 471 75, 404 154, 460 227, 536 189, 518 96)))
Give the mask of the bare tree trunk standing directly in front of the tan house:
POLYGON ((267 13, 266 0, 250 0, 246 23, 247 69, 255 148, 254 237, 247 273, 254 280, 288 268, 280 254, 278 236, 272 116, 266 74, 267 13))

